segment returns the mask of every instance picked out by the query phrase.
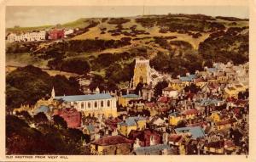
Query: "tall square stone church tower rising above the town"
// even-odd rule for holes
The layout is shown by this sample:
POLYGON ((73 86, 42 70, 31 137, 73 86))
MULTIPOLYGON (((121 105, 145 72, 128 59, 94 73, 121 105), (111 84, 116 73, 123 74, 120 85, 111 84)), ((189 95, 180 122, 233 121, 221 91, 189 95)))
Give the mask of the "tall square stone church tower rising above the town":
POLYGON ((150 65, 148 59, 136 59, 132 80, 133 88, 137 87, 139 82, 150 83, 150 65))

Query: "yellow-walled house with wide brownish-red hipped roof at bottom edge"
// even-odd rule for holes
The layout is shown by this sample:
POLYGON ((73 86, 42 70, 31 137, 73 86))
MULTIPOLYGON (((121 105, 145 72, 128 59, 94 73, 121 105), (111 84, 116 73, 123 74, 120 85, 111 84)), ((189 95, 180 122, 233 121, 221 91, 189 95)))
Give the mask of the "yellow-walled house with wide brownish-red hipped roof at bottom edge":
POLYGON ((132 143, 132 140, 120 135, 101 137, 90 142, 90 154, 130 154, 132 143))

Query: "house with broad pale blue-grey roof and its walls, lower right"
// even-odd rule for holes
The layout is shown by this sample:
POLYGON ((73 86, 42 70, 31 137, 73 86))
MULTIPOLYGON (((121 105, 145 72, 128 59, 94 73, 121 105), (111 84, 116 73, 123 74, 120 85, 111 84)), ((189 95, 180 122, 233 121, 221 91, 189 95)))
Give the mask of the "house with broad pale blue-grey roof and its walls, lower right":
POLYGON ((176 128, 174 130, 177 135, 183 135, 184 137, 189 136, 192 139, 205 137, 205 133, 200 126, 181 127, 181 128, 176 128))

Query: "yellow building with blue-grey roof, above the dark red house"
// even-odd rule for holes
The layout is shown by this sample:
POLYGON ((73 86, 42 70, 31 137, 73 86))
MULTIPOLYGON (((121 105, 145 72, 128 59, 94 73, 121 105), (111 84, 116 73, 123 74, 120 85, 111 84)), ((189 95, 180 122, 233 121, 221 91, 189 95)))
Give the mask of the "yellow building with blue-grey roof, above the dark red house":
POLYGON ((125 121, 118 123, 118 131, 128 136, 131 130, 143 130, 146 128, 146 119, 143 117, 129 117, 125 121))

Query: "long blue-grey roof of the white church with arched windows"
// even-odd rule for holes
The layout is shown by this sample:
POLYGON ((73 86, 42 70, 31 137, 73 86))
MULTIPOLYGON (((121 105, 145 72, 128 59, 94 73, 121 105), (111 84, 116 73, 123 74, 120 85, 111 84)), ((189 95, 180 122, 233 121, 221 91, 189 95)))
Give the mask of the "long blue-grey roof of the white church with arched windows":
POLYGON ((110 99, 113 98, 108 93, 99 93, 99 94, 86 94, 86 95, 74 95, 74 96, 56 96, 55 99, 63 100, 67 102, 74 101, 88 101, 88 100, 97 100, 97 99, 110 99))

